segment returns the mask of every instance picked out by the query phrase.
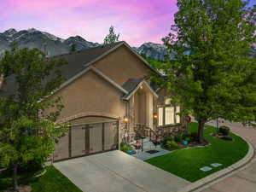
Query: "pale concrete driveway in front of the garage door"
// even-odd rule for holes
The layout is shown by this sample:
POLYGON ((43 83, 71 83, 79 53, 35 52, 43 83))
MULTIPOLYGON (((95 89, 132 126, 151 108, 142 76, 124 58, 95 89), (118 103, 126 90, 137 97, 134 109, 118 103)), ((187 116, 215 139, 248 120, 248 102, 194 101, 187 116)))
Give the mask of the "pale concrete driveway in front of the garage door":
POLYGON ((189 182, 121 151, 57 162, 84 192, 174 192, 189 182))

